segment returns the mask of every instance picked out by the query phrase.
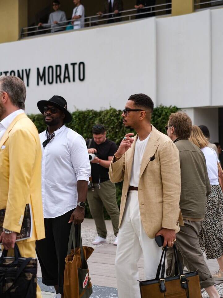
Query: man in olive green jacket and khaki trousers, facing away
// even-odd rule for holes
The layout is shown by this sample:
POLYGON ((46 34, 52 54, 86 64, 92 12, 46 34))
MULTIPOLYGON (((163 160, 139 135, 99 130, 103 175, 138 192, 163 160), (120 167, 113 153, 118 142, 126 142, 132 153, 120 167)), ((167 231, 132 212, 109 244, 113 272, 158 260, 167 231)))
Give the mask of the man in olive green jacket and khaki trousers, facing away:
MULTIPOLYGON (((182 265, 189 271, 198 270, 201 288, 206 289, 210 298, 218 298, 220 296, 214 287, 214 279, 205 263, 198 240, 211 186, 204 154, 188 140, 191 127, 190 117, 181 112, 171 114, 166 126, 168 136, 179 150, 181 169, 180 208, 184 226, 180 225, 175 245, 182 265)), ((169 248, 166 275, 174 274, 174 252, 169 248)))

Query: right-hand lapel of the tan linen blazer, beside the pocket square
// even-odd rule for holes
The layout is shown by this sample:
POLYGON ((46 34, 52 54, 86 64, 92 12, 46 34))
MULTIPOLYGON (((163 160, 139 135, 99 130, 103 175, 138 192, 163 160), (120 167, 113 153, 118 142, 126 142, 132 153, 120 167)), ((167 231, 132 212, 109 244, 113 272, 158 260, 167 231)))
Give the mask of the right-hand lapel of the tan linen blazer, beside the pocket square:
POLYGON ((141 162, 141 167, 140 167, 140 172, 139 172, 139 180, 145 170, 145 168, 147 167, 148 163, 150 162, 150 158, 156 153, 157 148, 159 143, 157 142, 156 138, 156 128, 152 126, 152 131, 151 131, 151 135, 149 137, 148 143, 146 145, 144 154, 143 154, 143 158, 142 158, 142 162, 141 162))

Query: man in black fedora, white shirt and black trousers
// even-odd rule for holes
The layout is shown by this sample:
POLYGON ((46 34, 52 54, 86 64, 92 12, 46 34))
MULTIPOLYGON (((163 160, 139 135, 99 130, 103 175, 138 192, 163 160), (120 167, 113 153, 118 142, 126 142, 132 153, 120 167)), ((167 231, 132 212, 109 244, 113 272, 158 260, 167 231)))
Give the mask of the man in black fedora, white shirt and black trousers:
POLYGON ((65 257, 71 222, 84 220, 84 207, 91 172, 84 138, 66 127, 72 120, 66 100, 54 95, 40 100, 38 109, 47 128, 40 133, 42 145, 42 201, 46 238, 36 242, 42 282, 54 286, 63 297, 65 257))

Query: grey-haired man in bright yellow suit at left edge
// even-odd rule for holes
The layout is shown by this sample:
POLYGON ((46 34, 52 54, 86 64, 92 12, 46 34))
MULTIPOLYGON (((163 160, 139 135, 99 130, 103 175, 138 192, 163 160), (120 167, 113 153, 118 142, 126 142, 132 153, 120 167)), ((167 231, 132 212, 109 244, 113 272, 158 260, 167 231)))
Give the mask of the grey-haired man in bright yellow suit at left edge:
MULTIPOLYGON (((21 256, 36 257, 45 238, 41 198, 41 146, 38 131, 24 113, 26 87, 15 76, 0 77, 0 209, 6 208, 0 242, 14 255, 26 204, 32 208, 32 236, 17 242, 21 256)), ((37 285, 36 297, 41 297, 37 285)))

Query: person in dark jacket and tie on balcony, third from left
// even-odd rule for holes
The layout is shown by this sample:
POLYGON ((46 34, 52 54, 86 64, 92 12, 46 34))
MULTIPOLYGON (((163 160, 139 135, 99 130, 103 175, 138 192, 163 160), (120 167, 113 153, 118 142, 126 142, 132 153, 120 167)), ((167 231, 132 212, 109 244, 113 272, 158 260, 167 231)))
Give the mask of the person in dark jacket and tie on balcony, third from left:
POLYGON ((104 16, 106 19, 109 19, 107 21, 108 24, 114 23, 114 22, 120 22, 120 18, 116 18, 117 16, 121 16, 120 11, 123 10, 123 2, 122 0, 105 0, 104 2, 104 11, 99 11, 97 15, 103 17, 103 14, 109 13, 110 15, 104 16), (114 19, 115 18, 115 19, 114 19))

